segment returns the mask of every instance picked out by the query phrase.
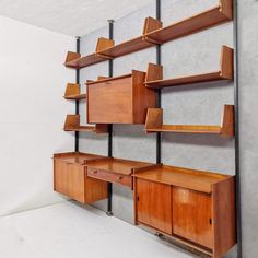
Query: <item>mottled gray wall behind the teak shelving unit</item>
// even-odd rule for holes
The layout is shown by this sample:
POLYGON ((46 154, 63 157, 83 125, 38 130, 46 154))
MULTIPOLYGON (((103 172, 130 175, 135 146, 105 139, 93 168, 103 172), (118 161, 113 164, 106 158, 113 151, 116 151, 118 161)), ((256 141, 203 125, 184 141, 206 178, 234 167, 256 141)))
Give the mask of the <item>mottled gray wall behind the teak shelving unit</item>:
MULTIPOLYGON (((218 0, 163 0, 162 21, 167 25, 186 16, 207 10, 218 0)), ((257 190, 254 168, 258 162, 258 138, 250 128, 257 128, 255 96, 258 94, 255 66, 258 64, 256 42, 258 39, 258 3, 255 0, 241 0, 241 118, 242 118, 242 185, 243 185, 243 230, 244 257, 258 256, 257 243, 257 190), (251 40, 253 38, 253 40, 251 40), (254 107, 254 108, 251 108, 254 107), (250 113, 250 110, 253 110, 250 113), (245 126, 244 126, 245 125, 245 126), (256 140, 257 139, 257 140, 256 140), (247 202, 245 200, 248 200, 247 202), (253 221, 253 223, 250 223, 253 221)), ((116 44, 138 36, 142 32, 146 16, 155 15, 155 4, 150 4, 115 22, 114 39, 116 44)), ((82 55, 92 52, 97 37, 107 36, 108 28, 98 30, 82 38, 82 55)), ((233 46, 233 23, 215 26, 188 37, 162 46, 164 77, 172 78, 219 69, 221 46, 233 46)), ((114 75, 128 73, 131 69, 146 70, 149 62, 155 62, 155 48, 131 54, 114 60, 114 75)), ((86 79, 107 75, 107 63, 85 68, 81 73, 81 83, 86 79)), ((206 83, 162 92, 162 107, 165 124, 210 124, 221 121, 224 104, 234 104, 234 83, 206 83)), ((80 105, 80 113, 85 115, 85 104, 80 105)), ((155 136, 145 134, 142 126, 114 126, 115 157, 155 162, 155 136)), ((94 134, 80 134, 80 151, 107 154, 107 138, 94 134)), ((164 133, 162 139, 162 161, 168 165, 196 169, 235 174, 234 139, 218 136, 164 133)), ((133 202, 130 189, 114 185, 114 214, 132 223, 133 202)), ((96 203, 106 210, 106 201, 96 203)), ((236 257, 233 250, 226 257, 236 257)))

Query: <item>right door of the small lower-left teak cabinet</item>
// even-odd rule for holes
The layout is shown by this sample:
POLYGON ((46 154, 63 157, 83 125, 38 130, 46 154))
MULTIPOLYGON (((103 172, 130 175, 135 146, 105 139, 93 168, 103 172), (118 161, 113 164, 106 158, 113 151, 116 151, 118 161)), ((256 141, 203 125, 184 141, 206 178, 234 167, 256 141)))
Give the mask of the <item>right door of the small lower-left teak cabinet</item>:
POLYGON ((85 174, 84 166, 79 164, 68 164, 68 191, 69 197, 73 200, 84 203, 85 192, 85 174))

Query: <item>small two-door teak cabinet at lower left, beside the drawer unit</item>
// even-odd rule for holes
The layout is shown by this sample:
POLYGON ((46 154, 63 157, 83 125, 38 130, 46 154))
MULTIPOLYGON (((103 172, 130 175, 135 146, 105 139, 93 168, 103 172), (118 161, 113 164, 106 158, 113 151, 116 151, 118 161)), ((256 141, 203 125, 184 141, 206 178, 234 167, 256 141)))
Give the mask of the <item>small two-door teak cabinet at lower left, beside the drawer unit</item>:
POLYGON ((81 203, 107 198, 107 184, 89 178, 86 163, 103 156, 70 152, 54 154, 54 189, 81 203))

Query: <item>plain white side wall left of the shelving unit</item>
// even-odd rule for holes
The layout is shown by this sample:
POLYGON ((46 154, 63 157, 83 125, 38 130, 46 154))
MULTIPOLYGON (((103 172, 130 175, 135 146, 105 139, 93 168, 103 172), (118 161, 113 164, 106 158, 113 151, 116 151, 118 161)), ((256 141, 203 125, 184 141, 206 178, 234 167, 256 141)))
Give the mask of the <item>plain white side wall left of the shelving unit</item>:
POLYGON ((0 215, 62 201, 52 191, 55 151, 73 103, 62 98, 74 71, 62 63, 74 38, 0 16, 0 215))

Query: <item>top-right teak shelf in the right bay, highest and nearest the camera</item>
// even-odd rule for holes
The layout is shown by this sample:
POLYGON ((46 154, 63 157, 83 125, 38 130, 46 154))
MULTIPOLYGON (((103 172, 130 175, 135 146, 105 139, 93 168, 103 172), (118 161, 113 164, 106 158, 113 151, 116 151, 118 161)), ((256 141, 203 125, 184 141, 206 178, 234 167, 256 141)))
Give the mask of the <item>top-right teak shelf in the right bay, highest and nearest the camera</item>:
POLYGON ((219 4, 191 17, 161 27, 144 35, 145 40, 164 44, 214 25, 233 20, 232 0, 220 0, 219 4))

